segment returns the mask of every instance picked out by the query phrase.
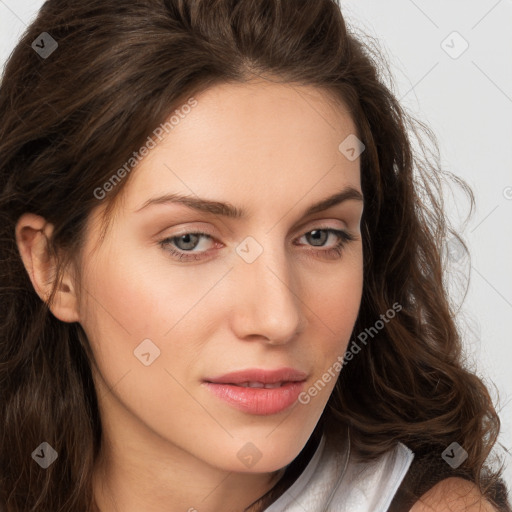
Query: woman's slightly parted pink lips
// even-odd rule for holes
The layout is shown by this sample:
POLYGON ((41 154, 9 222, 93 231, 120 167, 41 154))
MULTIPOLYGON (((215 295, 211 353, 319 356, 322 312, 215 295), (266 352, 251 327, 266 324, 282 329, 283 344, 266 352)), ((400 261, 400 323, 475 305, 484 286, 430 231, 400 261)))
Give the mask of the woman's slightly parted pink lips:
POLYGON ((302 391, 307 375, 293 368, 250 369, 205 379, 217 398, 249 414, 270 415, 288 409, 302 391))

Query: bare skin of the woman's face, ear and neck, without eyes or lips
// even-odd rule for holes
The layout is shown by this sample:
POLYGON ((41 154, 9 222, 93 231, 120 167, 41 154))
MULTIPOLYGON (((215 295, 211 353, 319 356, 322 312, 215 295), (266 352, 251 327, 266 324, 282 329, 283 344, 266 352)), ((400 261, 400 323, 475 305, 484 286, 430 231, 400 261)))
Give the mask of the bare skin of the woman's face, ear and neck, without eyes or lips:
MULTIPOLYGON (((238 512, 264 494, 304 447, 335 379, 307 405, 267 416, 233 408, 202 379, 290 366, 307 373, 308 389, 344 354, 360 306, 363 202, 304 216, 344 187, 362 195, 359 158, 338 149, 356 134, 344 106, 313 87, 266 81, 218 85, 196 99, 130 174, 102 244, 106 200, 93 211, 80 273, 68 269, 52 305, 57 318, 80 322, 98 364, 104 438, 94 491, 103 512, 238 512), (164 193, 226 202, 246 217, 178 204, 136 212, 164 193), (306 236, 317 229, 355 239, 328 255, 339 237, 306 236), (189 249, 202 253, 197 261, 159 245, 197 230, 212 237, 189 249), (248 236, 263 249, 252 263, 236 252, 248 236), (160 350, 149 366, 134 357, 145 339, 160 350), (249 442, 261 453, 250 468, 237 457, 249 442)), ((52 230, 30 213, 16 228, 43 299, 52 230)), ((179 240, 170 245, 186 252, 179 240)))

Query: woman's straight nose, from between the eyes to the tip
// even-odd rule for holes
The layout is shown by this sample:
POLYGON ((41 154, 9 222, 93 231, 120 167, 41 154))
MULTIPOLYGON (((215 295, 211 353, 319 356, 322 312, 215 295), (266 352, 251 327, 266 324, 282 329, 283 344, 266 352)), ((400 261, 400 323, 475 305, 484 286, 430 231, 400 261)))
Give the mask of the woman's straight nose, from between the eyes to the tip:
POLYGON ((282 238, 275 235, 249 236, 236 248, 236 325, 241 337, 260 335, 285 343, 302 328, 304 318, 298 280, 282 238))

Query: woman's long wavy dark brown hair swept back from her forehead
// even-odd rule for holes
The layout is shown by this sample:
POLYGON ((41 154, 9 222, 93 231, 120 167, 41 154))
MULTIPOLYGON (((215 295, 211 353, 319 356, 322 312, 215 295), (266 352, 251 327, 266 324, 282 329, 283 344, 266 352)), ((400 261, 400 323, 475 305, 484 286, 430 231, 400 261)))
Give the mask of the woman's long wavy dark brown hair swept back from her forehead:
MULTIPOLYGON (((366 459, 401 441, 418 468, 439 460, 448 467, 441 453, 456 441, 468 453, 457 474, 509 510, 498 471, 485 464, 498 415, 485 385, 463 367, 444 282, 441 247, 458 235, 444 217, 442 185, 452 178, 471 203, 472 192, 435 155, 413 151, 411 134, 434 147, 435 138, 400 106, 385 70, 375 46, 349 31, 335 0, 43 5, 0 88, 0 505, 8 512, 93 510, 101 443, 87 338, 34 291, 16 246, 17 220, 32 212, 54 225, 57 289, 61 269, 80 257, 85 223, 99 204, 95 190, 187 98, 254 76, 317 86, 350 108, 366 148, 364 290, 354 335, 395 302, 402 307, 343 368, 315 436, 336 440, 349 426, 352 446, 366 459), (45 471, 31 458, 42 442, 58 453, 45 471)), ((105 227, 129 178, 104 199, 105 227)), ((286 489, 304 453, 260 506, 286 489)), ((435 483, 406 482, 404 503, 435 483)))

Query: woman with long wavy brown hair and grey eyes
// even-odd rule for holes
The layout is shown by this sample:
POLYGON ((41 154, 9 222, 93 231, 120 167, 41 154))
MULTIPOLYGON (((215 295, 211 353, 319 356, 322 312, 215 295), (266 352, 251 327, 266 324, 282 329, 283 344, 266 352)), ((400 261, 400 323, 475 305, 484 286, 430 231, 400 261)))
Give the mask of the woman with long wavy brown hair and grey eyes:
POLYGON ((440 171, 334 0, 49 0, 0 113, 6 511, 510 510, 440 171))

